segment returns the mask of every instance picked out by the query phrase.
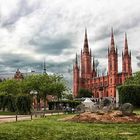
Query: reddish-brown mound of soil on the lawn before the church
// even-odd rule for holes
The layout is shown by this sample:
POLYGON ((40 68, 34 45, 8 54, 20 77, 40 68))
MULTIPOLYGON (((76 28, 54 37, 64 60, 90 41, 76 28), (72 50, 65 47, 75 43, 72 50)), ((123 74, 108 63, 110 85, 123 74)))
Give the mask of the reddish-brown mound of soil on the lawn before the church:
POLYGON ((64 118, 63 120, 74 122, 137 123, 140 122, 140 115, 133 114, 130 116, 123 116, 121 111, 114 111, 110 113, 85 112, 79 115, 64 118))

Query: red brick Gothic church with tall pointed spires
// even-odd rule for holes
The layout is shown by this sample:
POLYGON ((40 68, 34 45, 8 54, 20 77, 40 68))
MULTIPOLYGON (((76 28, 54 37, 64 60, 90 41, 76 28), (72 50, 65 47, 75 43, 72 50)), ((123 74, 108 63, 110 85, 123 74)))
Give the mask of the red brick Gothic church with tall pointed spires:
MULTIPOLYGON (((101 54, 102 55, 102 54, 101 54)), ((119 65, 120 62, 119 62, 119 65)), ((124 50, 122 52, 122 72, 118 73, 118 50, 115 46, 113 29, 111 42, 108 48, 108 72, 99 76, 95 67, 95 60, 89 49, 87 31, 85 30, 84 46, 81 50, 80 64, 77 54, 73 66, 73 95, 77 96, 80 88, 92 91, 93 97, 116 97, 116 87, 124 83, 127 77, 132 75, 131 52, 128 50, 127 36, 125 34, 124 50)))

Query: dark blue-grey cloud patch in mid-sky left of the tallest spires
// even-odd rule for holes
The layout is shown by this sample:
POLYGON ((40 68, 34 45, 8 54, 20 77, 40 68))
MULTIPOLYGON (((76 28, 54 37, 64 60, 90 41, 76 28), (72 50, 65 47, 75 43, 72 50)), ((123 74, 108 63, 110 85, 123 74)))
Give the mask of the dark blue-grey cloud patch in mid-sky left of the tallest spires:
POLYGON ((35 37, 29 43, 41 54, 60 55, 64 50, 74 48, 72 37, 69 35, 59 35, 55 38, 35 37))

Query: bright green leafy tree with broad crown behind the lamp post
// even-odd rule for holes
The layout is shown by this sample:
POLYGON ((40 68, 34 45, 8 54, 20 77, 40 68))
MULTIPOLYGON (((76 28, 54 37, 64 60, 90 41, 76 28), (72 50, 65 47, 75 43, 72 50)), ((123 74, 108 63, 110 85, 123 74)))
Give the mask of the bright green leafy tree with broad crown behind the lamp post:
MULTIPOLYGON (((61 75, 31 75, 22 81, 22 92, 37 91, 37 102, 40 104, 40 99, 44 101, 44 110, 46 110, 47 95, 62 97, 62 93, 66 90, 64 78, 61 75)), ((40 106, 40 105, 39 105, 40 106)))

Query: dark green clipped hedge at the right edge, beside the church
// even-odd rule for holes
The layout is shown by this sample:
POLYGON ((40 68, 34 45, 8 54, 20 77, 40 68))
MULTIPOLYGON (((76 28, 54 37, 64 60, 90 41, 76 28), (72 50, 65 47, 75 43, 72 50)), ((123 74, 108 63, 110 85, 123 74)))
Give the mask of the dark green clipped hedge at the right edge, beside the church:
POLYGON ((118 87, 119 102, 131 103, 140 107, 140 86, 139 85, 122 85, 118 87))

